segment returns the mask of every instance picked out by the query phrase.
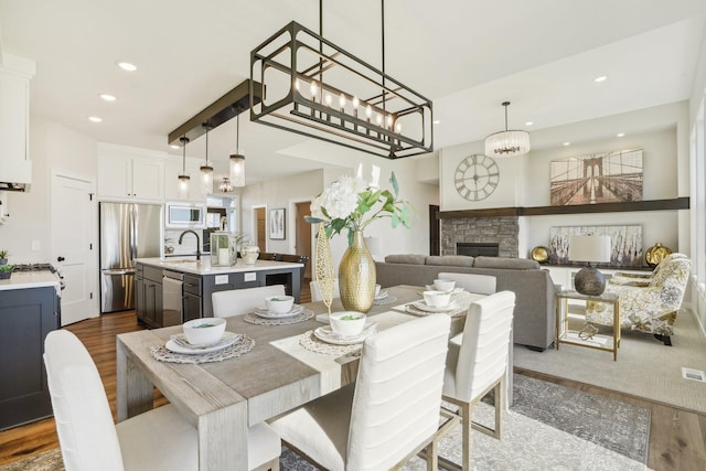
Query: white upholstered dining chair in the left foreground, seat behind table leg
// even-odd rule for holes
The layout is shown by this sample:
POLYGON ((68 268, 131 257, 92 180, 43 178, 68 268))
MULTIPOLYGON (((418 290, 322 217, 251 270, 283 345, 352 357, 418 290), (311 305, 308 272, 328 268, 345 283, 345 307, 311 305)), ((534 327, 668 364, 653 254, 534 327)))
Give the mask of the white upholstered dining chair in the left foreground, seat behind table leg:
MULTIPOLYGON (((173 405, 117 425, 98 370, 76 335, 46 335, 44 363, 67 471, 199 469, 199 435, 173 405)), ((248 431, 248 468, 278 470, 281 442, 266 424, 248 431)))

